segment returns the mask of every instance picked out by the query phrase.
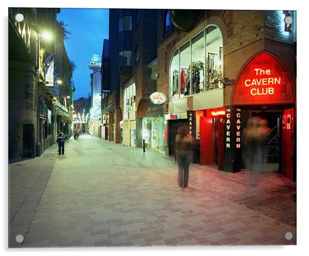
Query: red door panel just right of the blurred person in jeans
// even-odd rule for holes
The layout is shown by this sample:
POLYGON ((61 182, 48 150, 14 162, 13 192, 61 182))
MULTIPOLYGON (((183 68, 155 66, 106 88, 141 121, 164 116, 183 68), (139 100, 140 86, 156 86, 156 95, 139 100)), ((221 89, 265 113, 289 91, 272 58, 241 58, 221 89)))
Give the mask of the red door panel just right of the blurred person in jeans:
POLYGON ((214 162, 213 118, 200 117, 200 164, 214 162))

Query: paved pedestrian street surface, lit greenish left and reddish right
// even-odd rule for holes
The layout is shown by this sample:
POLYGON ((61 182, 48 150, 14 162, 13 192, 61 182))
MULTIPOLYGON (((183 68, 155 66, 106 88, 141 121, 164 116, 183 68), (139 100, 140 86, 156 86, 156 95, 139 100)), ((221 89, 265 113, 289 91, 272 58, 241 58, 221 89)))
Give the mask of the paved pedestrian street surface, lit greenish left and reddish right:
POLYGON ((180 188, 160 153, 89 135, 56 151, 9 166, 10 247, 296 244, 295 182, 278 173, 191 164, 180 188))

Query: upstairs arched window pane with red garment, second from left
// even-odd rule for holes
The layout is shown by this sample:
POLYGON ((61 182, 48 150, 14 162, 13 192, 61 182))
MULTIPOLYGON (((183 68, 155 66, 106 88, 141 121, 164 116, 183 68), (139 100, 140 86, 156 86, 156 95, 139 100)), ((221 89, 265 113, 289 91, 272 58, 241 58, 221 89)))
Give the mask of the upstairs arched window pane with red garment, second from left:
POLYGON ((190 95, 190 42, 180 47, 180 98, 190 95))

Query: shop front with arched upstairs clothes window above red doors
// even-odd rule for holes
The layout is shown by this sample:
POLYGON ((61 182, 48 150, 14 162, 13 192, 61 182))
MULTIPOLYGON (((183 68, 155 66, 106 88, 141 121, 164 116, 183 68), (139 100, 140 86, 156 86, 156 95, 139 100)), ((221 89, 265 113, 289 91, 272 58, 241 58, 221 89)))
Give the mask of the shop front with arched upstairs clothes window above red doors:
POLYGON ((195 140, 192 162, 223 166, 224 88, 223 37, 219 27, 208 25, 173 52, 169 69, 169 155, 175 155, 180 126, 187 125, 195 140), (220 136, 219 136, 220 135, 220 136))

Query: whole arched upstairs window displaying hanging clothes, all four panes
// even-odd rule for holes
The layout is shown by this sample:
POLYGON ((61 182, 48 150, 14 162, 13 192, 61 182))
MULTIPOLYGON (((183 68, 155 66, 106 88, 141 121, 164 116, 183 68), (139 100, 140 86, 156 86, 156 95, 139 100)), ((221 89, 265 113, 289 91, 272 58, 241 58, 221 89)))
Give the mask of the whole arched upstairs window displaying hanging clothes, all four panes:
POLYGON ((209 26, 177 49, 170 62, 170 100, 222 88, 223 39, 209 26))

